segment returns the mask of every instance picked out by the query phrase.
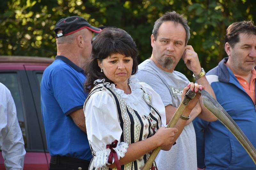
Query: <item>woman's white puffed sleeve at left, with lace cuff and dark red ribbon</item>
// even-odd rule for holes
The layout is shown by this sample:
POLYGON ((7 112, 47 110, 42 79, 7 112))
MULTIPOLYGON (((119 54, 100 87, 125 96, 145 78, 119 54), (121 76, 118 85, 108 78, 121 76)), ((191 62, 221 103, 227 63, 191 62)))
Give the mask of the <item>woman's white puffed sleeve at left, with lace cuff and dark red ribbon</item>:
MULTIPOLYGON (((87 137, 92 149, 96 152, 94 166, 102 167, 108 163, 111 150, 106 149, 115 140, 117 146, 113 148, 118 159, 124 157, 128 144, 121 142, 122 129, 118 121, 116 105, 108 93, 103 91, 95 92, 90 96, 84 106, 87 137)), ((112 159, 112 163, 114 159, 112 159)))

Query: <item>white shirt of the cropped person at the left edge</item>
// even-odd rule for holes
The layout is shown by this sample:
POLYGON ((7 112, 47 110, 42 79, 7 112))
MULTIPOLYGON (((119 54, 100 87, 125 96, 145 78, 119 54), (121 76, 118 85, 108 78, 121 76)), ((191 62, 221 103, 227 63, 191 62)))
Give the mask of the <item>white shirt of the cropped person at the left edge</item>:
POLYGON ((0 148, 6 169, 21 170, 26 154, 11 92, 0 83, 0 148))

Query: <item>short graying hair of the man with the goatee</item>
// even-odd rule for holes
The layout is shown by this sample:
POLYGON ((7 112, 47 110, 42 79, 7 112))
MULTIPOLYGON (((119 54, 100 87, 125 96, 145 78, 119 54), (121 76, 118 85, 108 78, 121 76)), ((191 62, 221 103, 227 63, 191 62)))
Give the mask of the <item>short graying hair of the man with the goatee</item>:
POLYGON ((186 18, 184 18, 183 14, 179 14, 176 11, 172 12, 165 12, 165 14, 158 18, 155 22, 152 34, 154 35, 154 39, 156 40, 158 35, 159 27, 165 22, 165 21, 173 21, 174 23, 181 24, 185 31, 186 31, 186 39, 185 39, 185 45, 187 45, 188 40, 190 38, 190 28, 188 26, 188 21, 186 18))

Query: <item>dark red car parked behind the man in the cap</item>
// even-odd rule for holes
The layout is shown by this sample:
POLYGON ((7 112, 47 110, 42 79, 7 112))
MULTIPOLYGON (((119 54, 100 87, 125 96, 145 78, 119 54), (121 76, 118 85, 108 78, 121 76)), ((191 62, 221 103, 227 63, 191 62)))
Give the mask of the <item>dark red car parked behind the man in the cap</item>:
MULTIPOLYGON (((40 83, 44 69, 52 62, 43 57, 0 56, 0 82, 12 93, 27 152, 24 170, 49 169, 51 157, 41 115, 40 83)), ((0 169, 5 169, 2 153, 0 169)))

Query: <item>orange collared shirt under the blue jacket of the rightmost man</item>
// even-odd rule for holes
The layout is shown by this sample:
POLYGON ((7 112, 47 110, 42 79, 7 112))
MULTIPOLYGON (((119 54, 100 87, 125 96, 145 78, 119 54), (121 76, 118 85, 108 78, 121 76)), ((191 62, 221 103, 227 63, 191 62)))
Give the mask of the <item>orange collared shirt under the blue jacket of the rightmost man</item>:
POLYGON ((251 97, 253 103, 255 104, 256 98, 255 98, 255 79, 256 79, 256 71, 255 69, 252 69, 252 77, 250 80, 250 84, 244 80, 239 75, 236 75, 236 78, 240 85, 244 88, 244 90, 247 92, 247 94, 251 97))

